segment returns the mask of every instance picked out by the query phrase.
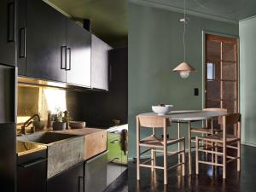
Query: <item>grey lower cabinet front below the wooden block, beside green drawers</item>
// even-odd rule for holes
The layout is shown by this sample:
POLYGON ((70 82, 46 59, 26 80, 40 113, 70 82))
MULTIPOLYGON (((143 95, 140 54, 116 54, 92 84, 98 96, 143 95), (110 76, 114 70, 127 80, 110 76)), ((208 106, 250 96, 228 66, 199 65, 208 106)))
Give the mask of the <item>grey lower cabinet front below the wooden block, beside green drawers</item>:
POLYGON ((107 187, 108 151, 85 162, 85 192, 102 192, 107 187))

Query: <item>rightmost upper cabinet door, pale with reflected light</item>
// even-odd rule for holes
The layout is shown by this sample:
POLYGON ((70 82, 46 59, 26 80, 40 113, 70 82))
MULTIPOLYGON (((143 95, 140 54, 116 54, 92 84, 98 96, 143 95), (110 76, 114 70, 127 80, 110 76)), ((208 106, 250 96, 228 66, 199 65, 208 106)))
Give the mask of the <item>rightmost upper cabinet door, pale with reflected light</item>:
POLYGON ((95 35, 91 35, 91 87, 108 90, 108 50, 112 49, 95 35))

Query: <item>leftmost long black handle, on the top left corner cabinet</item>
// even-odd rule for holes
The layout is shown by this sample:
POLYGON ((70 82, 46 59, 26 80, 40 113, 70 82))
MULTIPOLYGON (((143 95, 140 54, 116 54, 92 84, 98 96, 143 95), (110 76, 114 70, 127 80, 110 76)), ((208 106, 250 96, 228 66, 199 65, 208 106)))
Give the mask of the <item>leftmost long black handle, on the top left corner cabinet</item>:
POLYGON ((7 18, 7 41, 15 42, 15 2, 8 3, 7 18))

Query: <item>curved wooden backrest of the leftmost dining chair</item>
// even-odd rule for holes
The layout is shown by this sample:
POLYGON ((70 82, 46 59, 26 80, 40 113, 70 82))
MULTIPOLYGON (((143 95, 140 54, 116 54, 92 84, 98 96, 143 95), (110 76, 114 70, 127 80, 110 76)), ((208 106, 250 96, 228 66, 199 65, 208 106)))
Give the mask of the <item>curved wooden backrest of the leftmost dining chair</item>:
POLYGON ((148 128, 162 128, 164 127, 165 121, 166 126, 171 125, 171 119, 163 118, 160 116, 140 116, 137 115, 137 120, 140 126, 148 128))

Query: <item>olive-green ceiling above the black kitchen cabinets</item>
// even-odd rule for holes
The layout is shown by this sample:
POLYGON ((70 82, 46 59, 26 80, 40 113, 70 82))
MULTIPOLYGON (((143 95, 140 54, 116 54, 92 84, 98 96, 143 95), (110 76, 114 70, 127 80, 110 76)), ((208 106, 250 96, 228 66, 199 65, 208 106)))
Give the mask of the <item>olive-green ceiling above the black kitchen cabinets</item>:
POLYGON ((48 0, 74 20, 91 20, 91 31, 108 44, 127 41, 126 0, 48 0))

